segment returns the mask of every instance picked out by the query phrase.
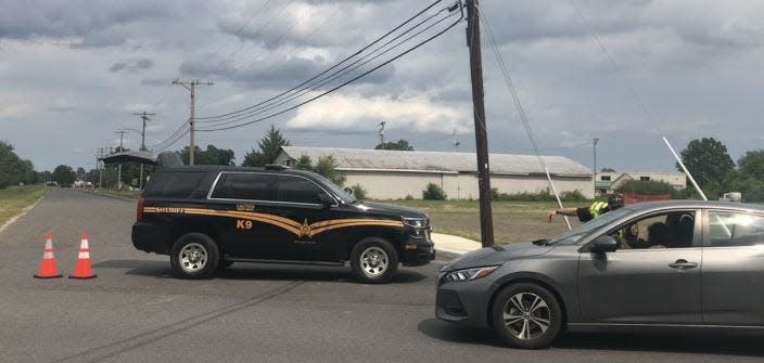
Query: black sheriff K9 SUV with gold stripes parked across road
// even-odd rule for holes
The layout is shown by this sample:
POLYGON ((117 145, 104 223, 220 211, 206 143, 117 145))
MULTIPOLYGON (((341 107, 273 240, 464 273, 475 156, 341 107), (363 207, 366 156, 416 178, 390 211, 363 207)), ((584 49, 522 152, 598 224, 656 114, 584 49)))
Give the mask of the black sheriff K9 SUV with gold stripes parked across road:
POLYGON ((206 278, 233 262, 344 265, 364 283, 435 257, 430 219, 355 199, 328 179, 280 167, 183 166, 145 185, 136 248, 169 255, 173 272, 206 278))

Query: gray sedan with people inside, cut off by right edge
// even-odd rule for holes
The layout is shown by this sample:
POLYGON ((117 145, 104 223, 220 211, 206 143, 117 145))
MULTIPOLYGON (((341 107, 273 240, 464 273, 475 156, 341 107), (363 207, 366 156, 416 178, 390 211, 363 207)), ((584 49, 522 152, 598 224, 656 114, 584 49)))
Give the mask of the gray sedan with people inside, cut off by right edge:
POLYGON ((437 317, 518 348, 563 329, 764 333, 764 207, 628 205, 551 241, 461 256, 437 284, 437 317))

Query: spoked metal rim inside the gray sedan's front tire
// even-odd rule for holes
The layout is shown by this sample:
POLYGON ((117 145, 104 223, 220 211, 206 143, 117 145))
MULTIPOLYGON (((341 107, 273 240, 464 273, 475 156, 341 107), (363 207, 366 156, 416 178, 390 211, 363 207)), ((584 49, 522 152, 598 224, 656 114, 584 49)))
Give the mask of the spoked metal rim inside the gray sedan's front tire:
POLYGON ((549 329, 551 311, 547 302, 533 293, 513 295, 504 304, 504 325, 521 340, 538 339, 549 329))

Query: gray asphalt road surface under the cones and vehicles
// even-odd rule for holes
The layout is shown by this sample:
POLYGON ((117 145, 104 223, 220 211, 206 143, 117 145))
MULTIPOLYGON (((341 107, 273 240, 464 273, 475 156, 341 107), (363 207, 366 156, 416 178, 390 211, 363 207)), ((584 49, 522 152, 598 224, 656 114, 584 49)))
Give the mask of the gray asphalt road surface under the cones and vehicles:
POLYGON ((130 243, 135 204, 52 191, 0 232, 0 362, 762 362, 759 338, 578 335, 523 351, 433 316, 446 261, 361 285, 349 268, 235 263, 208 281, 169 276, 130 243), (90 235, 97 278, 35 280, 43 235, 60 272, 90 235))

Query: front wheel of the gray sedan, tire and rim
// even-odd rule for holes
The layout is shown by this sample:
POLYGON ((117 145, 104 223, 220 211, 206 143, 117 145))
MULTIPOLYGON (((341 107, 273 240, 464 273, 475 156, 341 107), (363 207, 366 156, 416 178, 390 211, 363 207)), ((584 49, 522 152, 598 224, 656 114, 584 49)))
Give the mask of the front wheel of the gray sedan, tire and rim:
POLYGON ((508 346, 547 348, 562 326, 555 296, 536 284, 515 284, 499 291, 492 307, 493 326, 508 346))

